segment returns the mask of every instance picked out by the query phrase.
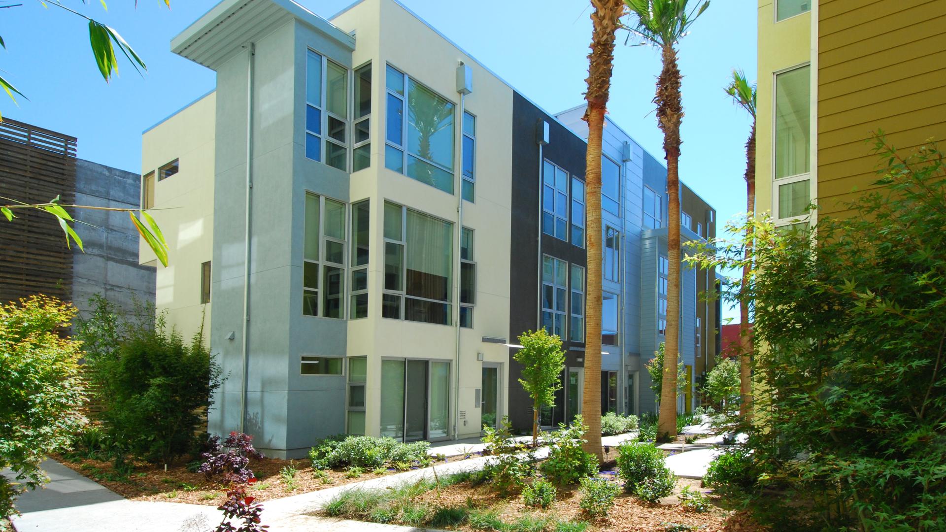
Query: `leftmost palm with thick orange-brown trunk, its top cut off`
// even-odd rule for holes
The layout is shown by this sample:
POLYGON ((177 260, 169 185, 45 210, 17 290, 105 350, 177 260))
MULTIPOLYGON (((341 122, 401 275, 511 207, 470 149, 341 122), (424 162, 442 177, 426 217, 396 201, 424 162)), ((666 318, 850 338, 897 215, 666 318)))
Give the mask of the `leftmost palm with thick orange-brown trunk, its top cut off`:
POLYGON ((603 459, 601 452, 601 139, 604 113, 611 88, 614 41, 621 17, 622 0, 591 0, 591 52, 588 54, 587 108, 588 143, 585 156, 587 202, 587 319, 585 338, 585 389, 582 412, 588 425, 585 451, 603 459))

